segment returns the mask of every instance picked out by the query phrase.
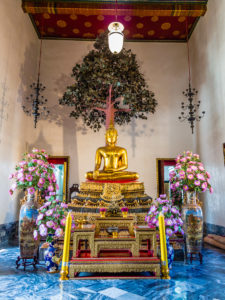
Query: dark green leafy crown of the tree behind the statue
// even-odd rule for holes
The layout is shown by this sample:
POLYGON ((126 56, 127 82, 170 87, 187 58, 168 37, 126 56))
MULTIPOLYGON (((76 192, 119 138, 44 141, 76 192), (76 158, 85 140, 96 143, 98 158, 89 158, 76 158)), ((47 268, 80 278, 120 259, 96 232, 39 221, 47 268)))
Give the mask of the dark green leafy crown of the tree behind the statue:
MULTIPOLYGON (((112 54, 108 49, 107 33, 97 38, 94 49, 81 64, 75 65, 71 76, 75 83, 67 87, 59 103, 73 107, 70 116, 81 117, 94 131, 105 123, 105 113, 95 107, 105 108, 110 85, 112 100, 122 96, 122 105, 130 109, 116 112, 115 123, 118 125, 129 123, 133 117, 147 119, 148 113, 155 112, 157 101, 153 92, 147 89, 136 55, 125 49, 112 54)), ((114 107, 120 106, 120 101, 116 101, 114 107)))

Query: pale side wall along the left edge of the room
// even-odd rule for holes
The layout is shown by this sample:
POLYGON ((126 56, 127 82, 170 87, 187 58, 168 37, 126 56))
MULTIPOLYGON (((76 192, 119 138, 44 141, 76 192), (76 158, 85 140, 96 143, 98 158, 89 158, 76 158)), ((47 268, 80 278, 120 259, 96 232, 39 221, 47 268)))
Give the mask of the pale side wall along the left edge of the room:
POLYGON ((25 151, 27 117, 21 102, 36 73, 38 39, 20 0, 0 1, 0 224, 17 219, 8 179, 25 151))

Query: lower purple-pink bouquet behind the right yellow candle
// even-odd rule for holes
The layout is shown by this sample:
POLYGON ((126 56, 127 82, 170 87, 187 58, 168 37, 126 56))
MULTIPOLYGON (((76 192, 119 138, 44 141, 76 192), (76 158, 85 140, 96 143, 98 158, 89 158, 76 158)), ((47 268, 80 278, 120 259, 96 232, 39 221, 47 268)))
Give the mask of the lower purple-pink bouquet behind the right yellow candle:
POLYGON ((145 221, 150 228, 156 227, 159 230, 158 219, 161 212, 164 214, 166 234, 168 236, 172 236, 178 232, 184 234, 182 229, 183 221, 181 220, 179 209, 170 203, 166 195, 160 195, 159 198, 155 199, 145 217, 145 221))

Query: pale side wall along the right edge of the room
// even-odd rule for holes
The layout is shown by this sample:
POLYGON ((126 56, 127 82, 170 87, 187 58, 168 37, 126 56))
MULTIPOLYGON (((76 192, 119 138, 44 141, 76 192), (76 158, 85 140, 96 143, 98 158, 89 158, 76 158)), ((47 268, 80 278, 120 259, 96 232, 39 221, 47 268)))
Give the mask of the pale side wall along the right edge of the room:
POLYGON ((206 111, 197 131, 197 151, 212 176, 215 192, 205 193, 206 222, 225 226, 225 1, 210 0, 190 41, 193 85, 206 111))

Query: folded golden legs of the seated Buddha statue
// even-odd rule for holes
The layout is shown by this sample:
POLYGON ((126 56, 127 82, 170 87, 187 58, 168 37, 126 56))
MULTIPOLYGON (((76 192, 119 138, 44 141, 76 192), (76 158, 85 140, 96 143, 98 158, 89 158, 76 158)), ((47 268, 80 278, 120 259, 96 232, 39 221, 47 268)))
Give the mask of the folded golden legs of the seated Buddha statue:
POLYGON ((97 178, 93 178, 93 172, 87 172, 86 179, 90 180, 136 180, 139 178, 138 173, 129 171, 104 172, 99 171, 97 178))

